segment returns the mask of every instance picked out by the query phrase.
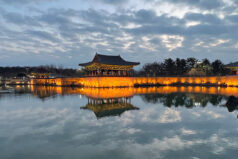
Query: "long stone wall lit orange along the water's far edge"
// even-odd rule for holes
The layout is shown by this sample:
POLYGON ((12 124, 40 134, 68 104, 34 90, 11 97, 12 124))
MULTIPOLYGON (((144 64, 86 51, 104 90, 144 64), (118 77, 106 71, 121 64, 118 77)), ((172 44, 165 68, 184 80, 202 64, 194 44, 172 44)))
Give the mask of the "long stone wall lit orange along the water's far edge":
POLYGON ((238 86, 238 76, 219 77, 83 77, 31 79, 31 84, 84 87, 133 87, 134 85, 204 84, 238 86))

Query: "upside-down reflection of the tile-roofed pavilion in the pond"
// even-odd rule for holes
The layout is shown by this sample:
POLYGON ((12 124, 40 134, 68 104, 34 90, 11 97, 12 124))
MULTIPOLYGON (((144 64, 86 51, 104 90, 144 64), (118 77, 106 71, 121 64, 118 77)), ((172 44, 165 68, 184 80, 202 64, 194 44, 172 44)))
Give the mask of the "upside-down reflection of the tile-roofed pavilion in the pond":
POLYGON ((139 108, 131 104, 131 98, 107 98, 107 99, 94 99, 88 98, 88 104, 81 109, 89 109, 94 112, 97 118, 107 116, 120 116, 128 110, 138 110, 139 108))

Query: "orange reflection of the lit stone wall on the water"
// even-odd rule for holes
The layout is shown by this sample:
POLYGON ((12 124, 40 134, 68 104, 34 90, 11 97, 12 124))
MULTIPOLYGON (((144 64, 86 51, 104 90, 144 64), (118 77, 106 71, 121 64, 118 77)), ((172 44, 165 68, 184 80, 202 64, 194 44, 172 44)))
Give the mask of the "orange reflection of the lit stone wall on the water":
POLYGON ((151 94, 151 93, 203 93, 203 94, 220 94, 225 96, 238 97, 237 87, 126 87, 126 88, 71 88, 71 87, 45 87, 45 86, 32 86, 31 90, 35 94, 47 96, 51 94, 82 94, 89 98, 121 98, 132 97, 138 94, 151 94))

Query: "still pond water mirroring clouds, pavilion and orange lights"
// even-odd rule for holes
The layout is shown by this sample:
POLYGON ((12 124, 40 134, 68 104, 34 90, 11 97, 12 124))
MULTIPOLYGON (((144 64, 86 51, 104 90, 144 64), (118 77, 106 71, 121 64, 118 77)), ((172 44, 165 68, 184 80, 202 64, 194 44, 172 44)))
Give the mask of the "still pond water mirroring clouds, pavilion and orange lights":
POLYGON ((236 159, 238 88, 16 87, 0 93, 1 159, 236 159))

